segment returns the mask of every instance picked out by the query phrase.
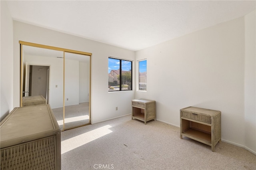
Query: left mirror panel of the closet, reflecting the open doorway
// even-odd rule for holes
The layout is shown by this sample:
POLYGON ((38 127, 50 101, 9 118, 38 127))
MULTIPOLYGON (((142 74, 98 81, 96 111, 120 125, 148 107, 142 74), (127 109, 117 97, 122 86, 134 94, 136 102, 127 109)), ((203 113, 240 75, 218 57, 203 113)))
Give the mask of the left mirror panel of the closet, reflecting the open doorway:
MULTIPOLYGON (((63 130, 63 51, 22 45, 22 106, 45 100, 63 130)), ((34 104, 33 104, 34 105, 34 104)))

